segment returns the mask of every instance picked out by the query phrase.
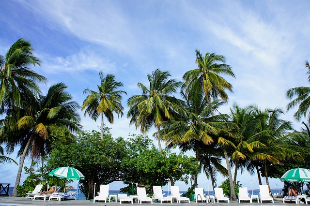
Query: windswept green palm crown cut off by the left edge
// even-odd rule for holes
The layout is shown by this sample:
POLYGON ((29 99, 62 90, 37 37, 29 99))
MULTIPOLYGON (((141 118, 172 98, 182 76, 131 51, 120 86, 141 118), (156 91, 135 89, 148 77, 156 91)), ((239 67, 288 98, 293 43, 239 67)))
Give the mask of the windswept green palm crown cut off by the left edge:
POLYGON ((40 65, 33 56, 31 44, 17 40, 7 51, 0 55, 0 114, 8 114, 10 108, 20 105, 21 95, 39 94, 36 82, 46 82, 46 78, 35 73, 30 65, 40 65))

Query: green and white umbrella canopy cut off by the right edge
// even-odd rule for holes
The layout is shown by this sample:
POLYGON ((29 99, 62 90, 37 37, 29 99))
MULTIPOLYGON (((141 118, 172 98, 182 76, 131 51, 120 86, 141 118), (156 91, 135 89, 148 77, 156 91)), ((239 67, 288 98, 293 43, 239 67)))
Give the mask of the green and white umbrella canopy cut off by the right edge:
POLYGON ((280 180, 282 182, 310 182, 310 170, 305 168, 294 168, 284 173, 280 180))

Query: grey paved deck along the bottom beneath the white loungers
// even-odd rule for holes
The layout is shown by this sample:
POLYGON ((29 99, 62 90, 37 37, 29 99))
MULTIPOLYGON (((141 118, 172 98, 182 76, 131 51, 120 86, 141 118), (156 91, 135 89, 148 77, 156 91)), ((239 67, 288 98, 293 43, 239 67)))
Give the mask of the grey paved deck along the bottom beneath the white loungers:
MULTIPOLYGON (((89 200, 62 200, 61 202, 56 201, 56 200, 51 200, 51 201, 43 201, 43 200, 31 200, 31 199, 26 199, 24 197, 0 197, 0 206, 1 205, 22 205, 22 206, 116 206, 116 205, 120 205, 119 202, 115 203, 115 202, 95 202, 93 203, 93 201, 89 201, 89 200)), ((130 203, 123 203, 122 205, 125 206, 129 206, 131 205, 130 203)), ((134 203, 134 205, 139 206, 141 204, 138 203, 134 203)), ((148 205, 150 206, 150 203, 142 203, 142 205, 148 205)), ((213 206, 212 203, 204 203, 202 204, 201 202, 199 204, 197 204, 195 201, 191 201, 190 203, 173 203, 173 206, 213 206)), ((214 206, 282 206, 282 205, 286 205, 286 206, 296 206, 297 204, 295 204, 294 202, 292 203, 282 203, 282 199, 281 198, 275 198, 275 203, 257 203, 254 202, 252 204, 250 204, 249 202, 243 202, 241 204, 238 203, 238 201, 231 201, 230 203, 225 203, 225 202, 221 202, 221 203, 214 203, 214 206)), ((304 205, 305 204, 298 204, 298 205, 304 205)), ((160 204, 160 203, 154 203, 152 206, 171 206, 171 203, 164 203, 164 204, 160 204)))

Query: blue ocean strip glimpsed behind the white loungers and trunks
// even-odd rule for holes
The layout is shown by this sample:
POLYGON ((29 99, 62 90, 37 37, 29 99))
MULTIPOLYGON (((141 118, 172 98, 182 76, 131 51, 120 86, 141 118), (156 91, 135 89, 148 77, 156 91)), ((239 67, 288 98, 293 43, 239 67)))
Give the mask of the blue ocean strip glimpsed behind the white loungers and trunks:
MULTIPOLYGON (((14 187, 9 188, 9 196, 12 195, 13 189, 14 189, 14 187)), ((77 191, 77 190, 73 190, 73 191, 77 191)), ((259 195, 259 192, 260 192, 259 189, 253 189, 253 191, 248 189, 249 195, 259 195)), ((282 194, 283 193, 282 189, 271 189, 271 192, 272 192, 272 194, 282 194)), ((119 190, 109 190, 109 193, 110 194, 113 194, 113 193, 123 194, 123 192, 120 192, 119 190)), ((171 191, 163 191, 163 193, 170 195, 171 191)), ((186 191, 180 191, 180 193, 186 193, 186 191)), ((210 193, 209 193, 209 191, 204 190, 204 193, 206 195, 214 195, 214 192, 211 190, 210 190, 210 193)), ((85 195, 81 191, 78 194, 78 199, 79 200, 86 200, 85 195)))

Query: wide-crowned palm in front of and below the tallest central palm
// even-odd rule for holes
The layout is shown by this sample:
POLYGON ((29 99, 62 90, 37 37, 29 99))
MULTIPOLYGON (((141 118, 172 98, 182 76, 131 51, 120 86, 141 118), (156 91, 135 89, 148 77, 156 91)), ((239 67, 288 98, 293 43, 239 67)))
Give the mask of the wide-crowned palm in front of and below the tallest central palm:
MULTIPOLYGON (((213 143, 223 127, 225 115, 216 115, 217 109, 223 104, 220 100, 207 102, 200 84, 196 82, 191 90, 181 95, 186 101, 185 112, 179 114, 178 119, 165 121, 162 129, 163 139, 169 147, 179 146, 182 151, 192 150, 196 153, 196 162, 199 164, 200 150, 213 143)), ((194 185, 198 181, 195 175, 194 185)))

